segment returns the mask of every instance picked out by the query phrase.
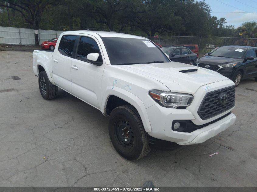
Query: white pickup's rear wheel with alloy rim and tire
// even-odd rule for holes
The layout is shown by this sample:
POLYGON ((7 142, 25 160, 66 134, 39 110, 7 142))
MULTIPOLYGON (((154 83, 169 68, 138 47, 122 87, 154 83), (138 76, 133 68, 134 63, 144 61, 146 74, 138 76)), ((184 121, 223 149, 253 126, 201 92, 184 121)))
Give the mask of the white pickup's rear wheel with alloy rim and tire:
POLYGON ((54 99, 57 96, 57 86, 51 83, 45 71, 41 71, 38 76, 38 85, 42 97, 46 100, 54 99))

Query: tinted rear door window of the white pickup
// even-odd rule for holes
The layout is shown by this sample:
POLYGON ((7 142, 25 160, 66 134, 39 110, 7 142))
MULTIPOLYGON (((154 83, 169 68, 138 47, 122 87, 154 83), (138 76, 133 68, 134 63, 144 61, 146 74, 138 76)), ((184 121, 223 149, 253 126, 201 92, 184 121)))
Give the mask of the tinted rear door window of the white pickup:
POLYGON ((64 56, 71 57, 76 38, 76 35, 63 35, 58 47, 58 51, 64 56))

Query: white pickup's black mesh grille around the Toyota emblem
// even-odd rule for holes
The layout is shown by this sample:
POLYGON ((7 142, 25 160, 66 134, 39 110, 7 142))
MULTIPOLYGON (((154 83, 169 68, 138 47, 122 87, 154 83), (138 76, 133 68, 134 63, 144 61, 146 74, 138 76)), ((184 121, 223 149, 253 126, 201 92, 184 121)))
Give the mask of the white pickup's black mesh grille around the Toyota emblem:
POLYGON ((202 120, 210 119, 235 106, 235 86, 218 89, 207 93, 198 109, 202 120), (222 105, 221 96, 227 94, 227 102, 222 105))

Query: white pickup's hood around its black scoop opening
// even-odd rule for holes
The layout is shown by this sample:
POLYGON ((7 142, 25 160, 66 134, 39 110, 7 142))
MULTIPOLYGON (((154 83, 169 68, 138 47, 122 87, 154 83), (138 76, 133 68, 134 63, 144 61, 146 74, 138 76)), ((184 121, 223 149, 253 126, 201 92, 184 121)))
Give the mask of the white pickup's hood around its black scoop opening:
POLYGON ((228 80, 227 77, 215 71, 179 62, 120 65, 116 67, 151 77, 164 84, 172 92, 189 94, 194 94, 203 85, 228 80), (197 71, 180 72, 189 69, 197 69, 197 71))

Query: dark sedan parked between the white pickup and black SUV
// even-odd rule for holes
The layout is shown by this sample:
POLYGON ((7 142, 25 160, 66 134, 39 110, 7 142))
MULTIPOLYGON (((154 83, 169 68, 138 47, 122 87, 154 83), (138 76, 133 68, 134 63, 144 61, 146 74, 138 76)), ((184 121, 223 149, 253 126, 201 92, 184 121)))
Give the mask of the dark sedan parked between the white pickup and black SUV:
POLYGON ((161 50, 165 52, 172 61, 194 65, 197 59, 197 55, 186 47, 165 46, 161 47, 161 50))

